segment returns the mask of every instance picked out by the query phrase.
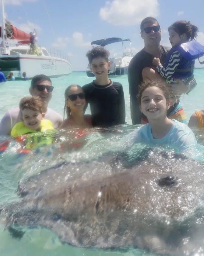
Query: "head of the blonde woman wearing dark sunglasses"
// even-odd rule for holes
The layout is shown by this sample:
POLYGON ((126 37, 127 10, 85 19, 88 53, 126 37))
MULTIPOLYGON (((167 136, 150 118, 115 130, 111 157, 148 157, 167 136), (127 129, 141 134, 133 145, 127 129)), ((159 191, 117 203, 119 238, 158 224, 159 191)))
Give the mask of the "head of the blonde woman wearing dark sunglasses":
POLYGON ((64 118, 65 112, 67 113, 67 117, 78 115, 79 112, 83 113, 85 105, 86 99, 82 87, 77 84, 68 86, 65 90, 64 118))

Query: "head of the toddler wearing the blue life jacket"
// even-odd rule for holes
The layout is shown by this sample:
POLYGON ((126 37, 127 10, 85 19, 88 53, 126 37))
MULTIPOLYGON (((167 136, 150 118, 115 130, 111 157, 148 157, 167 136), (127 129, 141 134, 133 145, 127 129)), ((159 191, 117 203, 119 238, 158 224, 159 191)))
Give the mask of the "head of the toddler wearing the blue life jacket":
POLYGON ((173 47, 195 39, 197 36, 198 27, 191 24, 190 21, 179 20, 174 22, 168 28, 168 31, 169 41, 173 47))

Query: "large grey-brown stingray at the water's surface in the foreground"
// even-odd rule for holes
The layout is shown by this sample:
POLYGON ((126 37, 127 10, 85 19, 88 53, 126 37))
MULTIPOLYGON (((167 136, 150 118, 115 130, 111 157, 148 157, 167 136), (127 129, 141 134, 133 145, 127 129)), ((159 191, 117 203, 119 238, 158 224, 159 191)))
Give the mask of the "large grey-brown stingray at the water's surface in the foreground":
POLYGON ((1 207, 0 218, 10 230, 43 226, 78 247, 203 255, 203 171, 192 159, 156 152, 62 163, 20 181, 21 199, 1 207))

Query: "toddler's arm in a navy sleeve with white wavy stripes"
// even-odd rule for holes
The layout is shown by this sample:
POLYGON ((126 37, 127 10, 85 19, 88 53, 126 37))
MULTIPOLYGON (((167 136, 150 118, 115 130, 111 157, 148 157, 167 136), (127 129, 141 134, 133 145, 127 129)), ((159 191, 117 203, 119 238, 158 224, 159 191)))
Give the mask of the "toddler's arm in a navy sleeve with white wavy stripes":
POLYGON ((159 64, 156 68, 162 77, 170 79, 174 74, 176 68, 178 67, 179 62, 180 53, 178 53, 178 51, 175 51, 172 53, 167 67, 164 68, 161 64, 159 64))

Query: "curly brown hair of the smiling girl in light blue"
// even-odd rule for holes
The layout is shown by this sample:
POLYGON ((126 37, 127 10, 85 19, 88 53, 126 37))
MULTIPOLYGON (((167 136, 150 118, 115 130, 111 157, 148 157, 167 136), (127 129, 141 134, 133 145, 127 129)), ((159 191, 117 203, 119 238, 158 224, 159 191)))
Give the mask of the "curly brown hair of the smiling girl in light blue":
POLYGON ((152 86, 156 86, 158 87, 160 90, 162 90, 162 92, 164 93, 164 97, 166 100, 170 100, 170 93, 168 90, 168 87, 166 86, 165 82, 162 81, 148 81, 148 82, 144 82, 139 86, 139 93, 137 94, 137 98, 139 100, 139 105, 141 105, 141 99, 142 99, 142 93, 144 92, 145 89, 152 87, 152 86))

